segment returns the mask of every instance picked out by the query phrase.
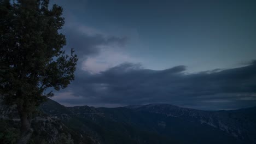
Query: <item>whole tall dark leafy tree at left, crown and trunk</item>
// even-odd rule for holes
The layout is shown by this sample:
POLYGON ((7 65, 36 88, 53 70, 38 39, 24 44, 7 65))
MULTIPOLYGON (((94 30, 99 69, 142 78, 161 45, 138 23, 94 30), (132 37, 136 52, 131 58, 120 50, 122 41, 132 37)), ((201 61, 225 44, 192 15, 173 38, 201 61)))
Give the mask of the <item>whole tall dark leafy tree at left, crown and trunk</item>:
POLYGON ((49 0, 0 0, 0 92, 8 105, 16 105, 21 119, 18 143, 32 134, 31 114, 49 88, 59 91, 74 80, 78 58, 65 54, 62 8, 49 0))

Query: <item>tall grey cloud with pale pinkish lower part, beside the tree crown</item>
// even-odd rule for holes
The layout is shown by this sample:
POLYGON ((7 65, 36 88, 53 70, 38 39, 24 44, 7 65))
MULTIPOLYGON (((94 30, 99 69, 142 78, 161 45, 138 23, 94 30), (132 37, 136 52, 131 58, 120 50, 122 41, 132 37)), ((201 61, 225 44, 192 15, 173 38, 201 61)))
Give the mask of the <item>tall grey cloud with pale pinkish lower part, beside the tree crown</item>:
MULTIPOLYGON (((131 57, 124 52, 128 38, 138 39, 136 29, 125 30, 113 34, 102 31, 95 27, 85 25, 85 17, 81 17, 88 8, 88 1, 79 0, 78 3, 56 0, 63 7, 63 17, 65 17, 65 26, 61 33, 66 35, 66 49, 74 48, 79 57, 76 73, 100 73, 110 67, 114 67, 124 62, 136 62, 137 58, 131 57), (79 14, 79 15, 78 15, 79 14), (85 72, 86 71, 86 72, 85 72)), ((68 51, 68 50, 67 50, 68 51)))

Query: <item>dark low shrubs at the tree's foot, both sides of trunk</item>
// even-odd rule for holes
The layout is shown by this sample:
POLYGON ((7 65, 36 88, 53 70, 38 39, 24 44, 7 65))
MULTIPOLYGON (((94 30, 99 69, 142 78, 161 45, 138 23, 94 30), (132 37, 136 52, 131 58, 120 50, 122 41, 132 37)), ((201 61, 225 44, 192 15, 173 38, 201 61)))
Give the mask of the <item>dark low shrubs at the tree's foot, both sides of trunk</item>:
MULTIPOLYGON (((73 144, 74 140, 71 137, 78 135, 68 128, 60 129, 61 122, 47 121, 33 122, 31 127, 34 132, 31 139, 28 140, 28 144, 73 144), (73 133, 73 134, 70 134, 73 133)), ((19 127, 18 123, 11 120, 0 119, 0 142, 4 144, 15 144, 19 139, 19 127)), ((78 139, 76 141, 79 141, 78 139)))

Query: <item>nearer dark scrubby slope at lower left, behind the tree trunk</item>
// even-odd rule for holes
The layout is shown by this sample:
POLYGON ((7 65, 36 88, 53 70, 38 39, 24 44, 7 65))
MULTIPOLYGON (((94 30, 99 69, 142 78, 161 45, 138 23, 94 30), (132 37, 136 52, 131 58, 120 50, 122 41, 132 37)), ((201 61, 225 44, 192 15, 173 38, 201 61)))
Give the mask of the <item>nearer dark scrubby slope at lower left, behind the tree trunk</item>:
MULTIPOLYGON (((66 109, 65 106, 50 99, 46 103, 54 110, 66 109)), ((48 115, 40 109, 34 113, 31 127, 33 134, 28 144, 99 143, 97 139, 92 139, 89 135, 84 134, 82 137, 79 131, 67 127, 62 119, 48 115)), ((19 129, 20 118, 16 106, 6 106, 0 99, 0 143, 15 144, 16 140, 19 139, 19 129)))

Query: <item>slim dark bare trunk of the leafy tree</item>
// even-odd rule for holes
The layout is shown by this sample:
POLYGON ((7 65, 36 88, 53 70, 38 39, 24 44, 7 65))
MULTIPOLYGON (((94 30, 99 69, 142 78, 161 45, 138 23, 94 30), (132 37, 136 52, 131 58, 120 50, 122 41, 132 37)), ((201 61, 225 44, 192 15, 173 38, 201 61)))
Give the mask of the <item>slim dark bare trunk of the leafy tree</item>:
POLYGON ((18 105, 18 112, 21 122, 21 134, 17 144, 26 144, 33 133, 33 129, 31 129, 31 117, 29 115, 30 113, 25 111, 22 105, 18 105))

